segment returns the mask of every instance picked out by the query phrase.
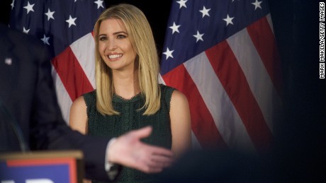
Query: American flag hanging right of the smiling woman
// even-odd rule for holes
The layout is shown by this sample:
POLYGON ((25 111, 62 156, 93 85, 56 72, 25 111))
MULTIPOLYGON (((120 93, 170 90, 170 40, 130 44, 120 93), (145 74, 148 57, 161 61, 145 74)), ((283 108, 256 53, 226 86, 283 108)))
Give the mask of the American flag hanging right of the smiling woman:
POLYGON ((162 83, 189 100, 193 146, 260 153, 281 117, 281 67, 266 0, 173 1, 162 83))

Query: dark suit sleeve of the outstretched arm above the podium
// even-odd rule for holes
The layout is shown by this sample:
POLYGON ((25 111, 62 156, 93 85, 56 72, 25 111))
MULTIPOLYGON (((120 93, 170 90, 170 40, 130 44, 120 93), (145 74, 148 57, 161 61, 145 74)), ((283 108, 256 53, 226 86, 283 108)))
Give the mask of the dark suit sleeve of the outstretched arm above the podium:
POLYGON ((80 149, 84 153, 86 177, 89 179, 107 180, 104 170, 106 146, 109 139, 94 136, 84 136, 73 131, 62 119, 57 103, 55 88, 52 82, 50 58, 45 47, 37 50, 39 59, 35 60, 37 67, 37 82, 33 103, 33 131, 36 148, 51 150, 80 149), (43 51, 40 51, 43 50, 43 51))

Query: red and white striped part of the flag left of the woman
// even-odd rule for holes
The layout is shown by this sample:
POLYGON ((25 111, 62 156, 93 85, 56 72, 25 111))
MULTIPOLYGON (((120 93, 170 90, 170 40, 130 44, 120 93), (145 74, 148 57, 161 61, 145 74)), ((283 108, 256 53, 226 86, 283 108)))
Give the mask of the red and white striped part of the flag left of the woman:
POLYGON ((57 100, 67 123, 72 102, 95 88, 94 48, 94 37, 89 33, 52 59, 57 100))

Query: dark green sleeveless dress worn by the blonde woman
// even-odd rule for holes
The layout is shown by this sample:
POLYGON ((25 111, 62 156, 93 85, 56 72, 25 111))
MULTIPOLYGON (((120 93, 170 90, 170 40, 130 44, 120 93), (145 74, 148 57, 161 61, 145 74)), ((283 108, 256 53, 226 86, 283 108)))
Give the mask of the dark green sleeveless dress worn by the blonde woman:
MULTIPOLYGON (((145 104, 144 96, 138 94, 130 100, 113 95, 113 107, 120 112, 119 115, 103 116, 96 110, 95 90, 84 94, 87 107, 88 134, 91 136, 117 137, 133 129, 140 129, 144 126, 152 126, 152 134, 143 138, 142 141, 151 145, 171 149, 172 134, 169 119, 170 101, 172 92, 175 90, 167 85, 160 85, 161 107, 158 112, 142 115, 145 104)), ((154 182, 154 175, 146 174, 128 167, 122 167, 118 182, 154 182)))

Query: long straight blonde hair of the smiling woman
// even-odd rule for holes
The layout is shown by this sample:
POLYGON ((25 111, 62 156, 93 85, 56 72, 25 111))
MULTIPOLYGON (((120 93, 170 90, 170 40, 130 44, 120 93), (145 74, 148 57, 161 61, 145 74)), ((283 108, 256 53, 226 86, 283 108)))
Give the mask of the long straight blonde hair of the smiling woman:
POLYGON ((157 49, 147 18, 139 8, 130 4, 118 4, 107 8, 101 13, 94 26, 96 108, 103 115, 119 114, 112 105, 114 94, 112 71, 99 53, 99 28, 101 22, 108 18, 118 18, 125 25, 133 49, 137 53, 135 64, 138 64, 140 92, 145 96, 145 105, 142 107, 145 108, 143 114, 154 114, 159 110, 161 98, 158 83, 159 59, 157 49))

